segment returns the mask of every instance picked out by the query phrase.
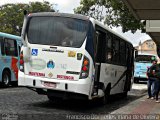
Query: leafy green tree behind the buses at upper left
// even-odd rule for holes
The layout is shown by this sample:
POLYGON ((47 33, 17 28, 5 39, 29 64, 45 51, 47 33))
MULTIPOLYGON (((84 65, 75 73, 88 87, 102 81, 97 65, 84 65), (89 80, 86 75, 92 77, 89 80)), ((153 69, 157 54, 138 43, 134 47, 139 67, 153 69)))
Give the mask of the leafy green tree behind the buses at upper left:
POLYGON ((35 12, 54 12, 52 5, 49 2, 30 2, 29 4, 5 4, 0 6, 0 31, 14 35, 20 35, 23 24, 23 11, 29 13, 35 12))

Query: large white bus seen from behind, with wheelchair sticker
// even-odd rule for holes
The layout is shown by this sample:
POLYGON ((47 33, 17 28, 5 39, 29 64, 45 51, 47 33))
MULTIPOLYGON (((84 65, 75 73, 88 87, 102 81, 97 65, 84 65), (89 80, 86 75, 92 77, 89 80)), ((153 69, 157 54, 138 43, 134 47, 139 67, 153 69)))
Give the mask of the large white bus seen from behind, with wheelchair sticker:
POLYGON ((100 22, 82 15, 33 13, 24 19, 19 86, 56 98, 101 98, 127 92, 134 48, 100 22))

